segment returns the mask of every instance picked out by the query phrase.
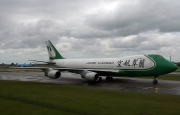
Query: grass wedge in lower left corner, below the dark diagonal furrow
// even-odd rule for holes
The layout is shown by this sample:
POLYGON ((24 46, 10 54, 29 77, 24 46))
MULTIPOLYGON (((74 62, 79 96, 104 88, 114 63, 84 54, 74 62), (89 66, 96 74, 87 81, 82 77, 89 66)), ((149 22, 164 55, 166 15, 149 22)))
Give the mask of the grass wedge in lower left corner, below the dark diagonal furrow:
POLYGON ((25 103, 23 101, 12 98, 0 98, 0 114, 1 115, 72 115, 65 111, 45 108, 43 106, 25 103))

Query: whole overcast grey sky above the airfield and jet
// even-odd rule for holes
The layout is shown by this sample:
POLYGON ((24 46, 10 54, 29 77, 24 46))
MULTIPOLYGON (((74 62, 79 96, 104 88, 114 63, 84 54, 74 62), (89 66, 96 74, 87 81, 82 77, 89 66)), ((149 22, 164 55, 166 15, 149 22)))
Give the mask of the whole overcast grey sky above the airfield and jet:
POLYGON ((180 61, 179 0, 0 0, 0 63, 161 54, 180 61))

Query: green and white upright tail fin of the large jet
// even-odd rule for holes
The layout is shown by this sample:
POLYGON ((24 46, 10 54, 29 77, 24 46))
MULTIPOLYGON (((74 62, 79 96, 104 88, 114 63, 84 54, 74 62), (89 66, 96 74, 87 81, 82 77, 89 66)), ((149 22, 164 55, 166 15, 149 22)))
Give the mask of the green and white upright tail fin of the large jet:
POLYGON ((46 46, 47 46, 47 50, 48 50, 50 60, 64 59, 50 41, 45 41, 45 42, 46 42, 46 46))

